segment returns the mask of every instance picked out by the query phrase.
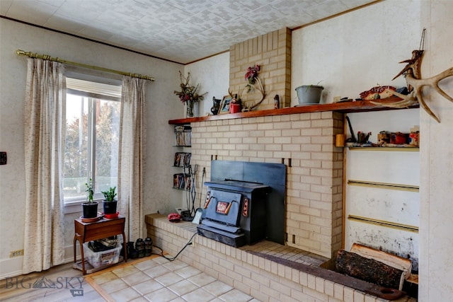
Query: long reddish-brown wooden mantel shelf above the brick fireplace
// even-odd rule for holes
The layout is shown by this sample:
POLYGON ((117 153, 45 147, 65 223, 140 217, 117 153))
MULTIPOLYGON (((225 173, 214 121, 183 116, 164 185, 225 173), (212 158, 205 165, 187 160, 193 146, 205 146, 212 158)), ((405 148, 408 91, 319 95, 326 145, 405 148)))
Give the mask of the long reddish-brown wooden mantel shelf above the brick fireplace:
MULTIPOLYGON (((378 100, 381 103, 393 103, 401 98, 386 98, 378 100)), ((307 105, 288 107, 281 109, 270 109, 270 110, 257 110, 250 112, 239 112, 230 113, 226 115, 207 115, 204 117, 189 117, 185 119, 169 120, 168 124, 190 124, 191 122, 205 122, 213 120, 232 120, 246 117, 266 117, 270 115, 292 115, 297 113, 306 112, 323 112, 323 111, 337 111, 337 112, 367 112, 367 111, 381 111, 381 110, 397 110, 405 108, 389 108, 382 105, 374 105, 371 100, 356 100, 353 102, 342 102, 342 103, 329 103, 319 105, 307 105)), ((411 106, 408 108, 418 108, 419 105, 411 106)))

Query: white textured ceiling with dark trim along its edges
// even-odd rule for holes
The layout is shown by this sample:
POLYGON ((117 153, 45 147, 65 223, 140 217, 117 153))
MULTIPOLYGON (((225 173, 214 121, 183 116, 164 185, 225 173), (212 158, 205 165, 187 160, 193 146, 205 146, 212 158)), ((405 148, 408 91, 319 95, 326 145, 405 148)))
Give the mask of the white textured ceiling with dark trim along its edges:
MULTIPOLYGON (((0 0, 0 15, 187 64, 374 0, 0 0)), ((30 50, 33 51, 33 50, 30 50)))

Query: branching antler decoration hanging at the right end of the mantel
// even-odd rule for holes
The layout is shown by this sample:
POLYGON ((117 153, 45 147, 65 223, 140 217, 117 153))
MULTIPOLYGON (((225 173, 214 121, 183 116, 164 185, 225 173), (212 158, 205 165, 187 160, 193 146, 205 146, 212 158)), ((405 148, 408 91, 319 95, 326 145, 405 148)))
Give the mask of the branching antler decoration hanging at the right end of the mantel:
MULTIPOLYGON (((405 61, 402 61, 400 63, 408 63, 406 66, 404 66, 403 70, 400 71, 399 74, 397 74, 394 79, 396 79, 398 76, 404 75, 406 77, 406 83, 408 85, 408 89, 411 93, 408 95, 402 95, 401 93, 396 93, 394 92, 393 94, 398 96, 399 98, 402 98, 403 100, 400 100, 398 102, 394 103, 379 103, 379 102, 371 102, 375 105, 383 105, 386 107, 391 107, 391 108, 405 108, 411 105, 415 105, 416 103, 420 103, 422 108, 428 112, 428 115, 430 115, 433 119, 435 119, 437 122, 440 122, 439 118, 430 110, 428 105, 425 103, 425 100, 423 100, 422 96, 422 88, 423 86, 430 86, 435 89, 440 95, 442 95, 444 98, 449 100, 450 102, 453 102, 453 98, 445 91, 442 91, 439 87, 439 82, 442 79, 446 79, 449 76, 453 76, 453 67, 442 71, 440 74, 437 74, 436 76, 432 76, 428 79, 421 79, 421 73, 420 73, 420 65, 422 62, 423 58, 423 50, 413 50, 412 52, 412 58, 407 59, 405 61)), ((392 79, 392 80, 394 80, 392 79)))

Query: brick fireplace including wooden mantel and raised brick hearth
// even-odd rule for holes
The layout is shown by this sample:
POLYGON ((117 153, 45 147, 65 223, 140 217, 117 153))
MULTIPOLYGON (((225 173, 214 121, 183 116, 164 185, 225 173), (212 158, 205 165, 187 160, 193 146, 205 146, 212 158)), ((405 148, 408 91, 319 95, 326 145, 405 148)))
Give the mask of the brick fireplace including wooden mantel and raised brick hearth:
MULTIPOLYGON (((365 101, 357 105, 371 109, 365 101)), ((322 106, 326 111, 285 108, 190 120, 191 163, 205 168, 205 180, 211 179, 213 160, 287 166, 285 245, 263 240, 234 248, 195 236, 195 223, 169 223, 160 214, 145 217, 147 236, 171 255, 193 238, 180 255, 183 262, 260 301, 388 301, 382 287, 327 269, 341 248, 343 229, 343 148, 334 146, 334 137, 344 132, 343 112, 352 105, 322 106)), ((169 121, 181 122, 188 121, 169 121)), ((200 180, 197 192, 206 196, 200 180)))

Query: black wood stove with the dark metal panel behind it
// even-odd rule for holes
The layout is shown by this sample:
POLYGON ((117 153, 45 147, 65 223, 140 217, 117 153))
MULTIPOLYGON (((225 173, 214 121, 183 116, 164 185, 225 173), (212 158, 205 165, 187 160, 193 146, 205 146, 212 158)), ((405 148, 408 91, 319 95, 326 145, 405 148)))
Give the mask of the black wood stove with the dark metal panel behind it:
POLYGON ((197 233, 234 247, 263 239, 283 244, 286 169, 285 165, 278 166, 283 180, 277 180, 280 185, 275 185, 277 175, 272 165, 276 164, 213 161, 212 180, 204 184, 207 195, 197 233), (235 178, 219 180, 215 169, 235 178), (251 171, 254 172, 250 174, 251 171))

